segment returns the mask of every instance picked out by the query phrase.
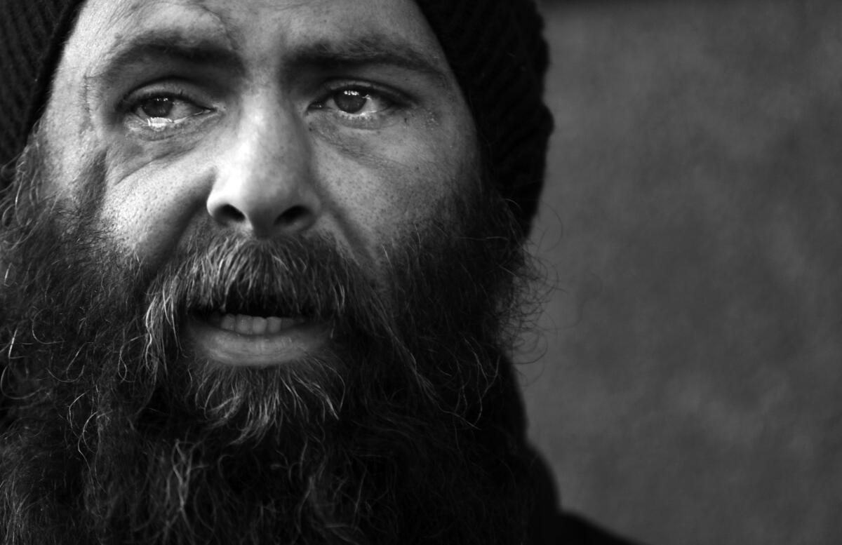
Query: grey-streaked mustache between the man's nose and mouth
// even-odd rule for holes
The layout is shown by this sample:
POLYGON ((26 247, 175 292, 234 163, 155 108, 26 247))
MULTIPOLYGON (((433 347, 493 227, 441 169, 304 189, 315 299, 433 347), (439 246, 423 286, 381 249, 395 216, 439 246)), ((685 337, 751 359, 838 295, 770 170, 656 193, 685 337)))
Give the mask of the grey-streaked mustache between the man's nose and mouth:
POLYGON ((383 289, 327 235, 194 239, 148 282, 147 353, 178 343, 189 315, 300 318, 373 334, 389 323, 383 289))

